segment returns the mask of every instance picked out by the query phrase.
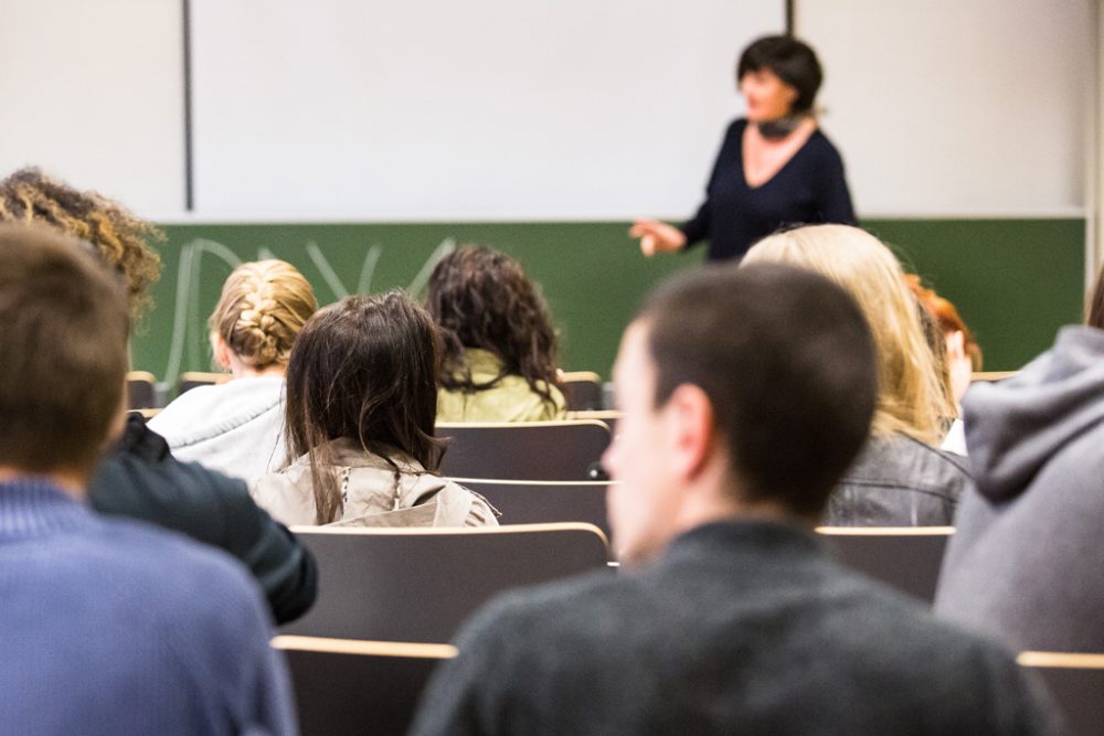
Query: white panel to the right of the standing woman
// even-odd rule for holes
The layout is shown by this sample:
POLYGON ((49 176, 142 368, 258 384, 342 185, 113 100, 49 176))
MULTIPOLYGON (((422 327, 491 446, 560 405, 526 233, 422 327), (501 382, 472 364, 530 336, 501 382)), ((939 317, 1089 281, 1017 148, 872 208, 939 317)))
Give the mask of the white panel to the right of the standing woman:
POLYGON ((799 1, 860 214, 1083 215, 1094 6, 799 1))

